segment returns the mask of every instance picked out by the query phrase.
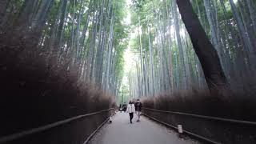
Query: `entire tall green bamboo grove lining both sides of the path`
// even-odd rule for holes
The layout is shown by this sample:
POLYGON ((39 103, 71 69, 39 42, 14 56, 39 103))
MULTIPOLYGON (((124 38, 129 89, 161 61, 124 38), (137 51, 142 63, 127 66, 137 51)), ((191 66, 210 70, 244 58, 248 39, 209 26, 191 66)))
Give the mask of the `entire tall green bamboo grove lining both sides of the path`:
MULTIPOLYGON (((132 0, 132 40, 138 61, 130 94, 206 88, 201 64, 174 0, 132 0)), ((256 3, 253 0, 194 0, 194 11, 218 52, 232 89, 255 75, 256 3)), ((125 0, 2 0, 0 33, 22 39, 46 62, 77 67, 79 82, 117 95, 129 26, 125 0), (33 41, 31 41, 33 39, 33 41)), ((28 46, 29 47, 29 46, 28 46)))

